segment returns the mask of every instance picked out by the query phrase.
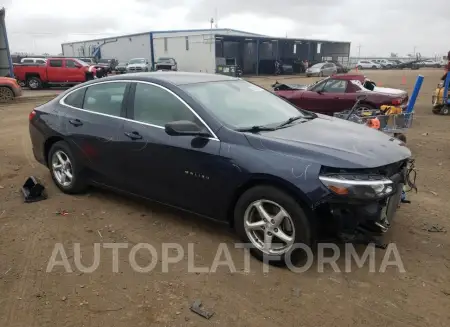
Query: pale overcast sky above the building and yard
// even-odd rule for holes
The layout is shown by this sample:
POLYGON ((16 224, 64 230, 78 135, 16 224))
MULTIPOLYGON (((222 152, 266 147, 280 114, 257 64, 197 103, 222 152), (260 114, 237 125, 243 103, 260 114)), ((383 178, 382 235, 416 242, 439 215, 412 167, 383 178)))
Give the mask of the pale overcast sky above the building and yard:
POLYGON ((353 56, 446 54, 450 0, 0 0, 12 52, 171 29, 232 28, 276 37, 350 41, 353 56), (446 37, 442 37, 446 35, 446 37))

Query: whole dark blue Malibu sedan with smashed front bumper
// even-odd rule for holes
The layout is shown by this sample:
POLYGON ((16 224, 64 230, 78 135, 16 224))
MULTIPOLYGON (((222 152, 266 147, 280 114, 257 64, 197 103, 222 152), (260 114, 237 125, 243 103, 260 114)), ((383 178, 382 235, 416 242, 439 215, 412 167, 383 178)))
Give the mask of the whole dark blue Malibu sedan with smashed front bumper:
POLYGON ((381 236, 411 156, 379 131, 223 75, 107 77, 29 119, 34 156, 62 192, 101 186, 226 222, 273 263, 301 258, 297 245, 323 228, 381 236))

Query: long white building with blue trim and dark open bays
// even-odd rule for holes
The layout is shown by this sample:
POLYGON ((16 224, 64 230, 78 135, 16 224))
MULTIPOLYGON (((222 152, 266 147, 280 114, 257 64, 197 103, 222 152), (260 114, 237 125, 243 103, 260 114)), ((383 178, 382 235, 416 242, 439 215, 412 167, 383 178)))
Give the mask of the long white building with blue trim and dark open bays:
MULTIPOLYGON (((117 59, 172 57, 178 70, 214 73, 217 65, 239 65, 244 74, 270 74, 274 61, 299 62, 335 60, 348 62, 349 42, 276 38, 233 29, 156 31, 118 37, 63 43, 65 57, 117 59)), ((297 68, 295 68, 297 67, 297 68)))

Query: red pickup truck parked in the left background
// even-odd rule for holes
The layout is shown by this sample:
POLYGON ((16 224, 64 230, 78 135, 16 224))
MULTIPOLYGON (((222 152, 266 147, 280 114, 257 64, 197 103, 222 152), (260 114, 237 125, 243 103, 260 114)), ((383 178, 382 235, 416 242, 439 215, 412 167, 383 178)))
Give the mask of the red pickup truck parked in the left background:
POLYGON ((52 85, 74 85, 94 78, 89 65, 75 58, 48 58, 45 64, 14 65, 14 75, 33 90, 52 85))

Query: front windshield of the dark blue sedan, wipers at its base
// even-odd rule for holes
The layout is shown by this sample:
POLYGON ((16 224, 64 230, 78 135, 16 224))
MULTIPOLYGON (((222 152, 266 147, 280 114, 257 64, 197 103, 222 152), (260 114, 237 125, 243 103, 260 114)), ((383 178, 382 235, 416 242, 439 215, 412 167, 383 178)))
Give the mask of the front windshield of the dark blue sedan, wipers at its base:
POLYGON ((309 116, 275 94, 235 80, 183 85, 181 88, 232 128, 278 125, 295 116, 309 116))

